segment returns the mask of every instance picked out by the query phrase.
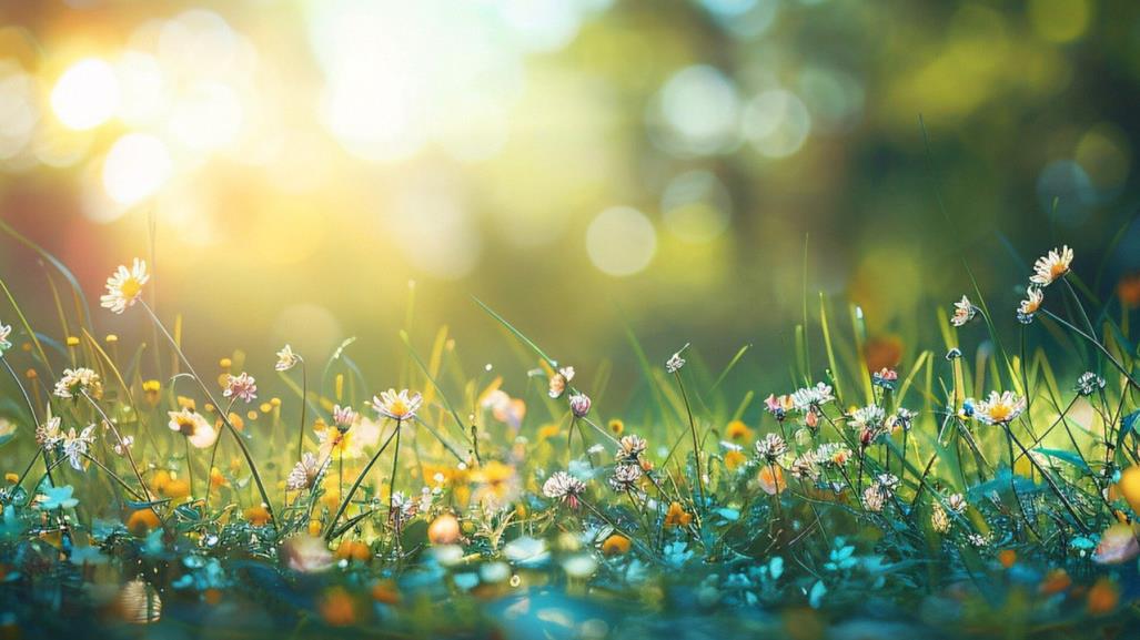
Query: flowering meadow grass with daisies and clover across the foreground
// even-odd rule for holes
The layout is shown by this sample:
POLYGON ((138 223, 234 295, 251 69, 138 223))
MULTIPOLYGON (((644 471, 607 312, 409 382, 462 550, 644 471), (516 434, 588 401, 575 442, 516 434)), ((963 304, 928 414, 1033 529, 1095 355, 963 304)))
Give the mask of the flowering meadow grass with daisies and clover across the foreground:
POLYGON ((446 327, 417 350, 412 300, 392 381, 364 378, 351 338, 324 363, 285 345, 276 363, 202 364, 147 303, 144 262, 100 302, 152 335, 97 338, 66 266, 5 230, 50 266, 62 328, 33 326, 0 280, 15 325, 0 323, 0 445, 19 461, 0 490, 5 629, 1126 638, 1135 624, 1130 309, 1098 300, 1067 248, 1026 274, 1016 312, 990 309, 971 274, 937 310, 940 343, 906 361, 872 362, 862 311, 811 304, 805 284, 783 388, 741 375, 748 346, 650 356, 627 328, 641 391, 603 419, 606 368, 583 379, 482 301, 524 379, 465 370, 446 327), (1061 347, 1029 350, 1033 331, 1061 347))

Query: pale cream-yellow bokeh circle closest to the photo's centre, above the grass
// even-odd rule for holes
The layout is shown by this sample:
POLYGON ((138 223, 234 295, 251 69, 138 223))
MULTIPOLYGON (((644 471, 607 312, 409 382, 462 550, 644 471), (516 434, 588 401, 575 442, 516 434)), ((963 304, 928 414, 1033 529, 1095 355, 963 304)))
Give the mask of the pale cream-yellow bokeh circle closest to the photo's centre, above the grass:
POLYGON ((609 276, 633 276, 657 253, 657 230, 642 212, 627 206, 597 214, 586 230, 591 262, 609 276))

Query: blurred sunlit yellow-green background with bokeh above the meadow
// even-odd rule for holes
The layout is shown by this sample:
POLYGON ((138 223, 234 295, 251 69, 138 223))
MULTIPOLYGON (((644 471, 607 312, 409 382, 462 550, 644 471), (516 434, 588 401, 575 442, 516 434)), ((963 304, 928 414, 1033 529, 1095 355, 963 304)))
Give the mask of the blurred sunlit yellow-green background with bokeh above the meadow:
MULTIPOLYGON (((963 256, 1011 325, 1053 244, 1105 300, 1140 268, 1131 0, 5 0, 0 24, 0 216, 92 301, 153 257, 189 351, 266 374, 359 336, 394 376, 412 281, 417 344, 448 323, 469 363, 506 353, 478 296, 580 371, 633 374, 628 323, 653 359, 750 343, 787 379, 805 287, 911 350, 963 256)), ((52 333, 44 271, 0 246, 52 333)))

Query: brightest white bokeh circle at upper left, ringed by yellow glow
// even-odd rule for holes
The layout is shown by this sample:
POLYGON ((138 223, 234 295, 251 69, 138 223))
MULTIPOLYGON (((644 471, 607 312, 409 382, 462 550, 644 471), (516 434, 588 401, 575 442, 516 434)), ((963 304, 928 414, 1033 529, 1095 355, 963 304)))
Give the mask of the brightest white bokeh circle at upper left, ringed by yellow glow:
POLYGON ((51 90, 51 109, 68 129, 84 131, 107 122, 119 108, 115 69, 99 58, 67 67, 51 90))

